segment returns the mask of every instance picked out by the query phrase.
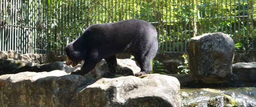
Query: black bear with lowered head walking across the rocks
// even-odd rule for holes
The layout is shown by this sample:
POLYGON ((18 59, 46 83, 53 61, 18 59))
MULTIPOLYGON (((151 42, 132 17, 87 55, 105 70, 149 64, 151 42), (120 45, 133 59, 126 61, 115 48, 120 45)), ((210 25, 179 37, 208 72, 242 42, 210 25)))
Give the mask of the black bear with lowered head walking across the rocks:
POLYGON ((116 73, 116 55, 129 54, 134 56, 141 68, 134 76, 141 76, 152 70, 151 60, 155 57, 157 48, 157 31, 146 21, 133 19, 94 24, 66 46, 66 65, 76 66, 84 60, 81 70, 71 74, 85 75, 105 59, 109 72, 101 76, 109 77, 116 73))

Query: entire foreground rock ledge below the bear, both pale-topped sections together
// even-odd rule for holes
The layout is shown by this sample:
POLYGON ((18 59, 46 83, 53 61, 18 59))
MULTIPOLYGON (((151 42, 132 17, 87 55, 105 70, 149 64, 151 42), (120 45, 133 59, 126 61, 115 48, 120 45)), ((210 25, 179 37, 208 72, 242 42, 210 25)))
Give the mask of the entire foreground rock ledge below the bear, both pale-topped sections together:
POLYGON ((95 78, 64 71, 0 76, 1 107, 180 107, 175 77, 143 75, 95 78))

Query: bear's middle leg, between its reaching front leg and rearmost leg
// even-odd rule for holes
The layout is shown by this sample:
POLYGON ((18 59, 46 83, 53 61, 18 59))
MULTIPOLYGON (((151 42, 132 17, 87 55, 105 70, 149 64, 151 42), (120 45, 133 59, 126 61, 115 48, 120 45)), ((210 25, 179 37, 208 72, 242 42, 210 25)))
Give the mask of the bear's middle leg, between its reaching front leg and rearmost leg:
POLYGON ((115 67, 117 66, 117 58, 115 57, 115 55, 113 55, 113 56, 106 57, 104 59, 108 64, 108 73, 103 73, 101 76, 102 77, 114 76, 116 72, 115 67))

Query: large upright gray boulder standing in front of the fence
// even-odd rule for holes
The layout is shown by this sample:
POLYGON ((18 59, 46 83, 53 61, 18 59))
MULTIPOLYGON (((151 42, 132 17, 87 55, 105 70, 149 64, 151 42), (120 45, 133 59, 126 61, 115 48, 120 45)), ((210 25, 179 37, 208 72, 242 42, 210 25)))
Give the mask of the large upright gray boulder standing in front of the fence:
POLYGON ((192 37, 188 46, 190 73, 205 83, 227 82, 232 72, 234 42, 221 32, 192 37))

